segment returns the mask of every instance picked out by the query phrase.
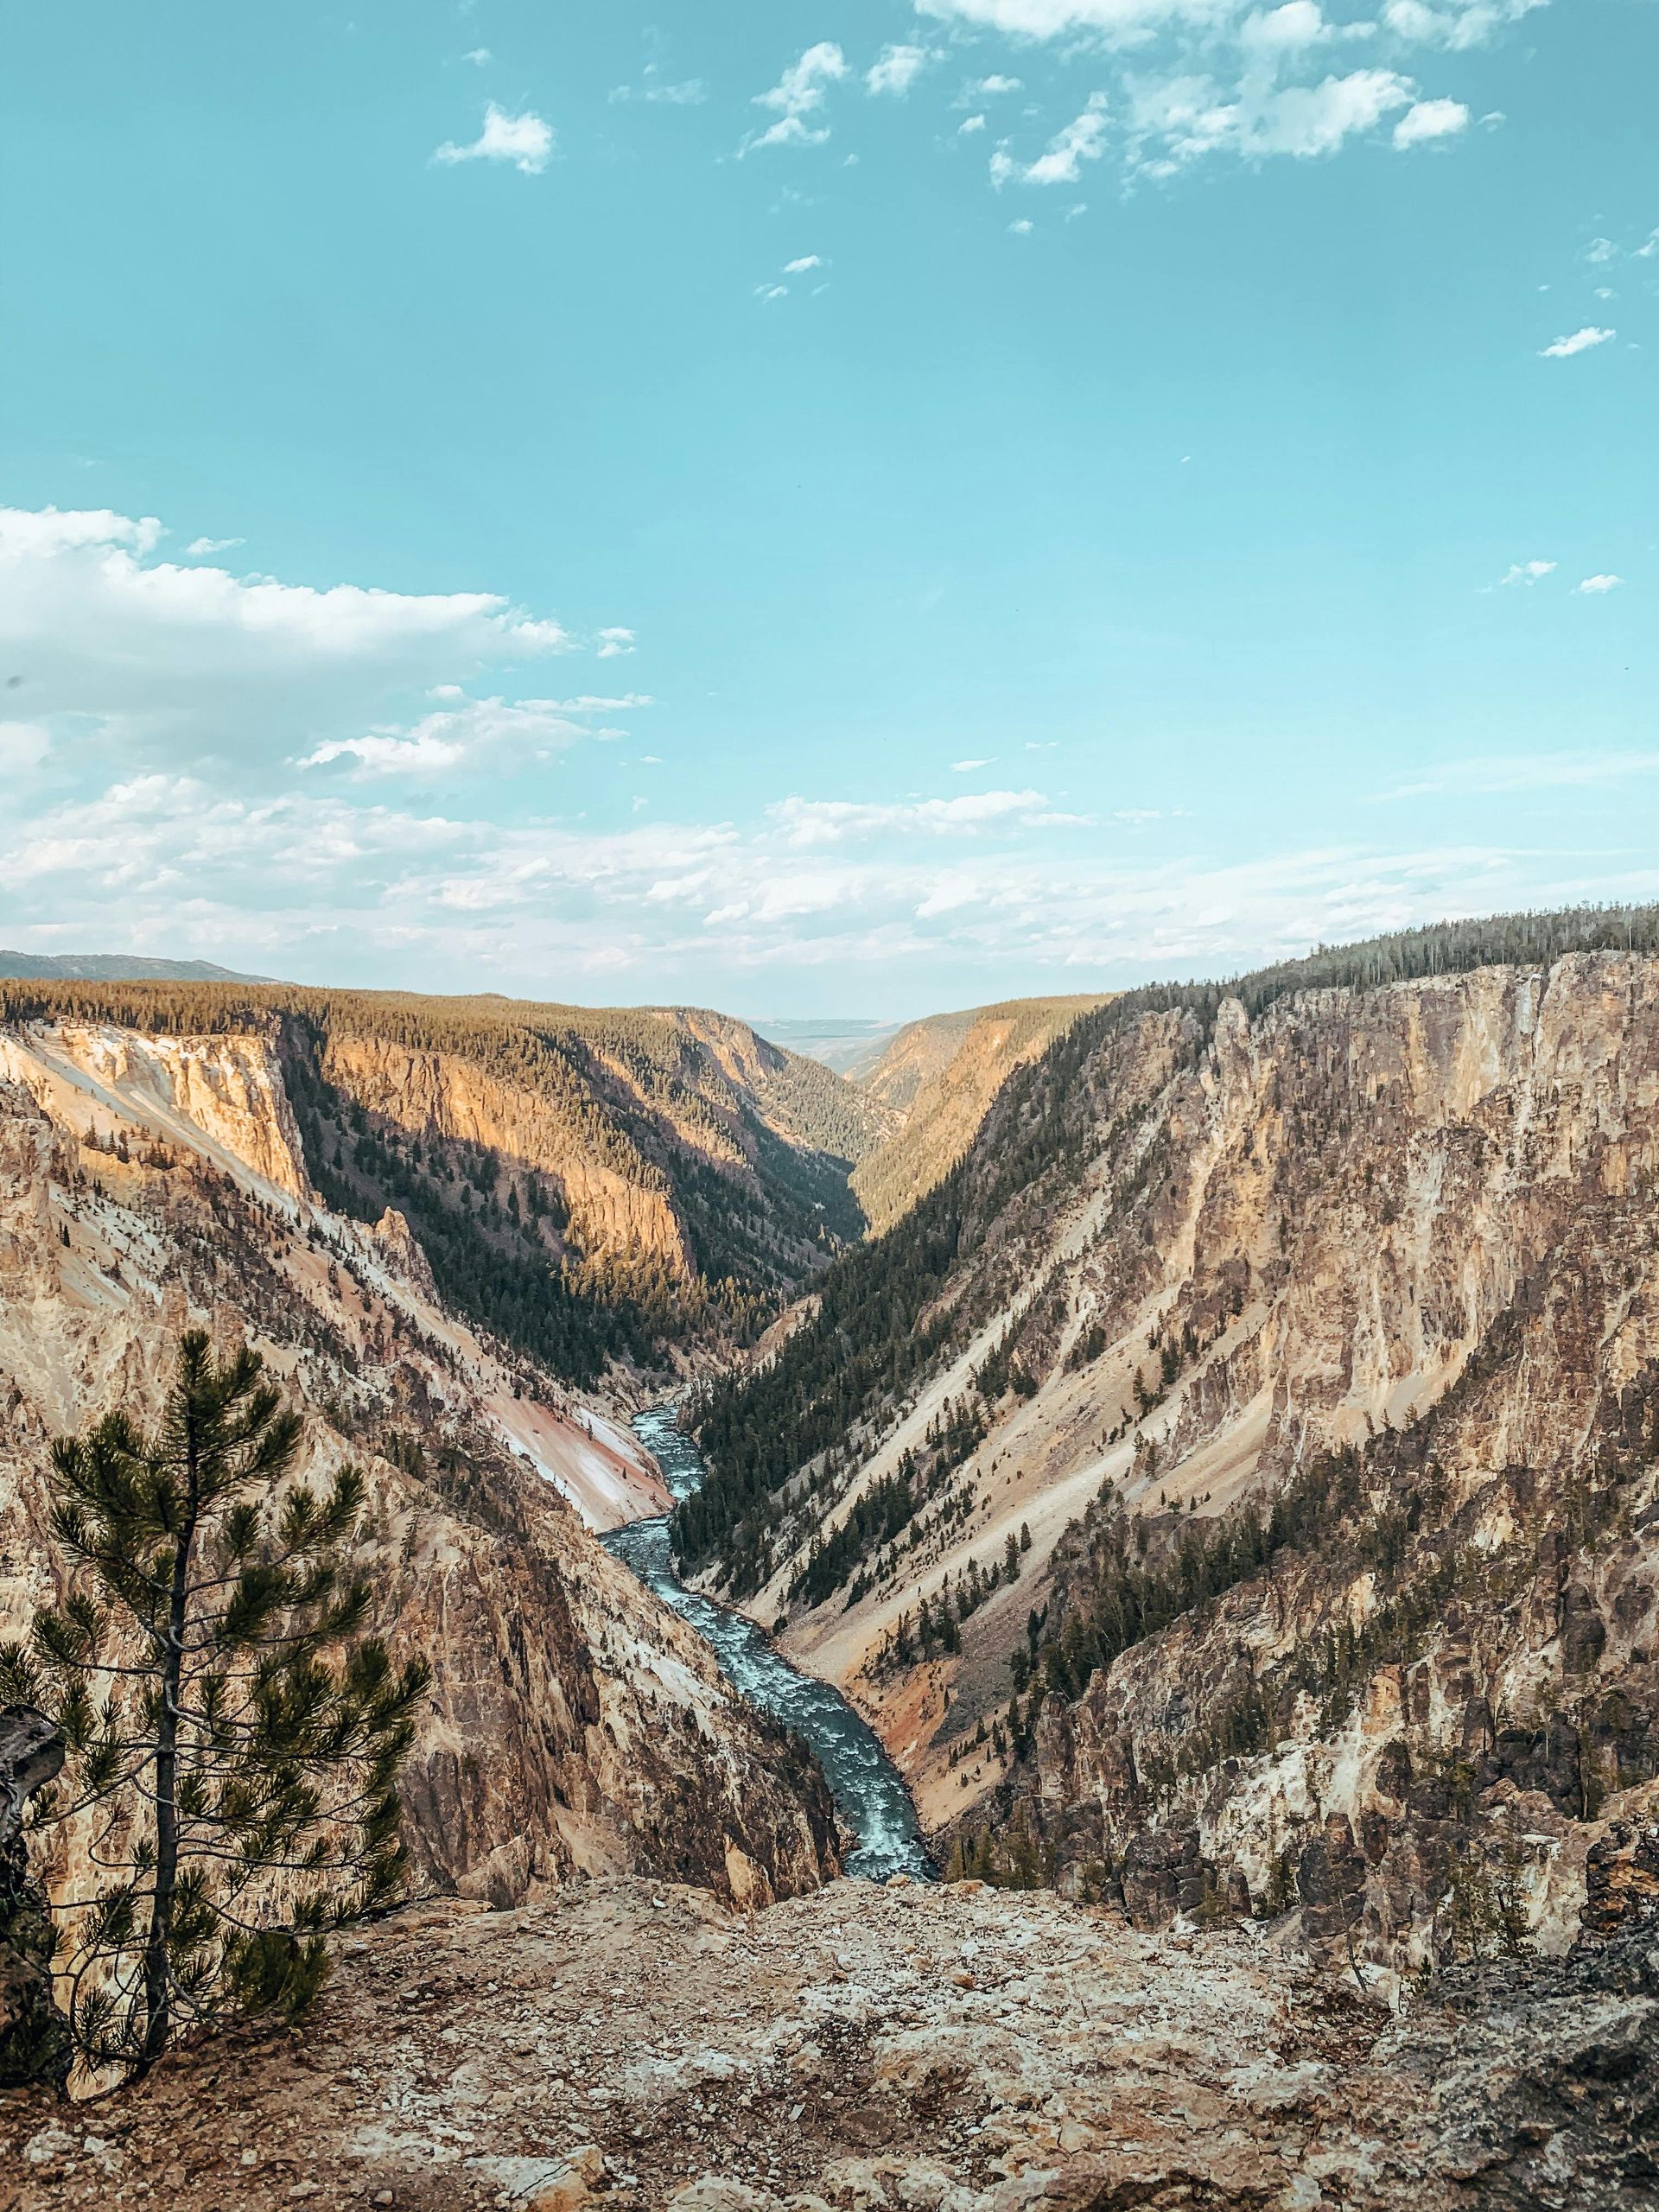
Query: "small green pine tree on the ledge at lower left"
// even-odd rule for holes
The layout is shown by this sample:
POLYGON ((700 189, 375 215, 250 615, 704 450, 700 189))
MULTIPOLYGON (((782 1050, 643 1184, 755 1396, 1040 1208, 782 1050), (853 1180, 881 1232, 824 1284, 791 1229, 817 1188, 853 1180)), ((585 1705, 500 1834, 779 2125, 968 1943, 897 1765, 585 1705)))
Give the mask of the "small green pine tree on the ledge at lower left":
POLYGON ((155 1429, 117 1411, 53 1447, 71 1595, 0 1652, 0 1694, 69 1741, 44 1818, 91 1832, 95 1880, 62 1907, 75 2044, 135 2075, 190 2026, 303 2013, 327 1929, 405 1869, 427 1670, 363 1635, 363 1475, 285 1482, 301 1422, 261 1365, 192 1329, 155 1429))

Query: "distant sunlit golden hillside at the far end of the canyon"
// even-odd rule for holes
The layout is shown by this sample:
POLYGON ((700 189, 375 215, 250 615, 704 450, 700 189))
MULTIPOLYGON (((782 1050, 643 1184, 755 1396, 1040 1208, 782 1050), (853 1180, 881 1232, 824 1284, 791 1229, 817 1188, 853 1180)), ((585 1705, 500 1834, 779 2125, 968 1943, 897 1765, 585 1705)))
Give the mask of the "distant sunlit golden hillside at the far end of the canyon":
POLYGON ((967 1152, 1006 1077, 1035 1060, 1102 998, 1011 998, 907 1022, 867 1064, 843 1073, 872 1102, 902 1115, 852 1177, 872 1230, 885 1230, 967 1152))

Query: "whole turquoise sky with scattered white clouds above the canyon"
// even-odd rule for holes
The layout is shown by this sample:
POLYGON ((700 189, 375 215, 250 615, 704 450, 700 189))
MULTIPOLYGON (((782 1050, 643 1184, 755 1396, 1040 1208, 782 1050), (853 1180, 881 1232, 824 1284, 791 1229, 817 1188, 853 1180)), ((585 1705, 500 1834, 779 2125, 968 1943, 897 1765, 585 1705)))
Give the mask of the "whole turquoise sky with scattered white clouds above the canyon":
POLYGON ((1655 0, 58 0, 0 945, 898 1020, 1659 896, 1655 0))

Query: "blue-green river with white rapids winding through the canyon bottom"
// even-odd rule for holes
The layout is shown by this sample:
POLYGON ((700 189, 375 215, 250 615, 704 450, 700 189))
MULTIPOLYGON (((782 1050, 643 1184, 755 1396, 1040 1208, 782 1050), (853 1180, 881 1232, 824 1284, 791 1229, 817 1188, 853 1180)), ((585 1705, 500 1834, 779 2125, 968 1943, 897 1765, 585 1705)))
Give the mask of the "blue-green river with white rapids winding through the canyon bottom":
MULTIPOLYGON (((675 1427, 672 1411, 641 1413, 633 1427, 661 1467, 672 1495, 690 1498, 701 1486, 703 1462, 697 1444, 675 1427)), ((792 1728, 818 1754, 836 1812, 858 1838, 847 1858, 847 1874, 860 1874, 872 1882, 885 1882, 889 1874, 933 1880, 933 1863, 922 1847, 909 1790, 874 1728, 858 1719, 847 1699, 827 1681, 796 1672, 772 1650, 754 1621, 684 1588, 675 1575, 664 1515, 613 1528, 604 1544, 639 1575, 646 1588, 690 1621, 714 1652, 726 1679, 750 1703, 792 1728)))

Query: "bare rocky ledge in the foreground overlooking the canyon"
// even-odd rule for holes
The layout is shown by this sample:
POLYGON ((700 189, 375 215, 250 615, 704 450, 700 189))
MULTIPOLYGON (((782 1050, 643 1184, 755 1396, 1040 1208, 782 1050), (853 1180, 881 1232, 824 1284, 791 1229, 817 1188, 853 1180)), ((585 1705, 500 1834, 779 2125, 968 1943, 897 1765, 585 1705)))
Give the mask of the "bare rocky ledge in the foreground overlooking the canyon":
POLYGON ((752 1916, 611 1880, 422 1905, 314 2022, 0 2099, 0 2208, 1108 2212, 1659 2203, 1659 1931, 1407 2020, 1261 1929, 975 1885, 752 1916))

